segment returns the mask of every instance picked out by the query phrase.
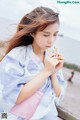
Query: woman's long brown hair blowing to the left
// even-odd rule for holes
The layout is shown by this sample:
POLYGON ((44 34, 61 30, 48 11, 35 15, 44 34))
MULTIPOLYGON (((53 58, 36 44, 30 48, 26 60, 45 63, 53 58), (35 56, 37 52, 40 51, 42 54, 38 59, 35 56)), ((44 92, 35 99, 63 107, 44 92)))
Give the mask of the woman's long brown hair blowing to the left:
POLYGON ((14 47, 29 45, 33 42, 30 33, 44 30, 47 25, 59 22, 57 12, 47 7, 37 7, 30 13, 26 14, 20 21, 14 36, 8 40, 8 46, 5 55, 14 47))

